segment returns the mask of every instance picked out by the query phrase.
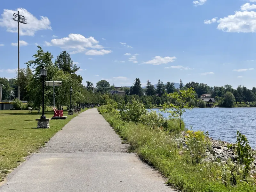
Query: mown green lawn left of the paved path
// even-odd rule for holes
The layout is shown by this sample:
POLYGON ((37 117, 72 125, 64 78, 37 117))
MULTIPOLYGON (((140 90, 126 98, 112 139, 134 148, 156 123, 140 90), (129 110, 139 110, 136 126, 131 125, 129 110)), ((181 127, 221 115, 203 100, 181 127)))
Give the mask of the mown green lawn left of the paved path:
MULTIPOLYGON (((68 111, 64 111, 63 116, 68 116, 67 119, 51 120, 50 129, 38 129, 35 119, 40 118, 41 115, 42 112, 37 111, 31 113, 26 110, 0 110, 0 181, 23 162, 26 156, 36 152, 77 116, 68 116, 68 111)), ((45 112, 45 115, 51 118, 53 110, 45 112)))

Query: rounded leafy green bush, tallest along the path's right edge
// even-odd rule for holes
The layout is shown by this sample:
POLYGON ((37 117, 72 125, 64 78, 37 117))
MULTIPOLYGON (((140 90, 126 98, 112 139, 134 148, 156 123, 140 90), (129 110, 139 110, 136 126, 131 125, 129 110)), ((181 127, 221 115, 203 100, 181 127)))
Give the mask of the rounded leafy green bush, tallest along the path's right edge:
POLYGON ((124 121, 138 123, 141 116, 145 115, 147 109, 144 107, 144 104, 141 101, 132 98, 132 102, 127 105, 123 104, 120 108, 120 115, 124 121))

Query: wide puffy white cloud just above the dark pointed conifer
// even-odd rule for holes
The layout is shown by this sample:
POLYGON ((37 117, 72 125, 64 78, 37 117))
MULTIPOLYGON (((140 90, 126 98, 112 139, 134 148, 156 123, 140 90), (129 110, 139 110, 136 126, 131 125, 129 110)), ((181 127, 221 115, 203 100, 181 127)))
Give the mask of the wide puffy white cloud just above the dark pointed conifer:
POLYGON ((70 54, 85 52, 87 48, 102 49, 103 46, 99 45, 99 41, 94 39, 94 37, 84 37, 80 34, 69 34, 68 37, 63 37, 61 39, 52 39, 52 45, 60 47, 62 49, 67 49, 70 54))

